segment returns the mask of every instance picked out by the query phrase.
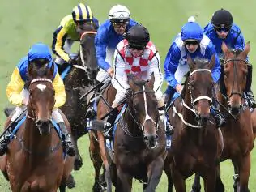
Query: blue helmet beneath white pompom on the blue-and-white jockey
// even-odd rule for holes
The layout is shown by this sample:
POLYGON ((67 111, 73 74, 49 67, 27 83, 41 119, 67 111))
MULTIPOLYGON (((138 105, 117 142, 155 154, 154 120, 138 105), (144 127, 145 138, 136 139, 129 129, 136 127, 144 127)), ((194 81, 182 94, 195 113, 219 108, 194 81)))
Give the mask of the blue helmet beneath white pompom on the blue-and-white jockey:
POLYGON ((189 21, 181 28, 181 40, 188 39, 201 41, 203 38, 203 29, 198 23, 189 21))

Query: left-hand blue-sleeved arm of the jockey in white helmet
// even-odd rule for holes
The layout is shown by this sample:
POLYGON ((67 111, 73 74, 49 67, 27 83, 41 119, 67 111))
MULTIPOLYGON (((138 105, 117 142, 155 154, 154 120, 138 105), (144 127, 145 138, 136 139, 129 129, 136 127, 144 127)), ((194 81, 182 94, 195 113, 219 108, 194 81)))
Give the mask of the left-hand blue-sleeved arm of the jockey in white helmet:
POLYGON ((96 60, 98 62, 98 66, 101 69, 107 71, 111 67, 108 62, 105 61, 106 59, 106 49, 107 49, 107 35, 105 30, 99 29, 96 34, 95 38, 95 47, 96 47, 96 60))

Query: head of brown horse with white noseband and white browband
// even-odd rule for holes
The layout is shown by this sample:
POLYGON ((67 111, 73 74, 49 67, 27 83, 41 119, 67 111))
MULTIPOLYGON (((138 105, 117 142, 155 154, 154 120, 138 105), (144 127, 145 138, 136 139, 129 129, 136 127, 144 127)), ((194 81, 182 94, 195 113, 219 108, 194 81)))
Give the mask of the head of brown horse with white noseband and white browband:
POLYGON ((198 125, 207 126, 214 86, 211 70, 215 66, 215 55, 211 57, 210 62, 201 58, 195 58, 193 62, 189 56, 188 65, 190 66, 190 75, 186 79, 190 92, 188 100, 194 109, 198 125))

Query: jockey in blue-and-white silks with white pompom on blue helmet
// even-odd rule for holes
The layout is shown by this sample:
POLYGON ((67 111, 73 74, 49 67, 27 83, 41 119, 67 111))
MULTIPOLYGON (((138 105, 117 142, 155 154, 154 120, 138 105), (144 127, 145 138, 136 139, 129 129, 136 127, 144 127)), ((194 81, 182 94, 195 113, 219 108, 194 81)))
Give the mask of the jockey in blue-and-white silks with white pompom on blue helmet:
MULTIPOLYGON (((203 35, 203 29, 198 23, 195 23, 194 17, 190 17, 188 23, 181 28, 181 33, 173 41, 164 61, 165 79, 168 83, 168 88, 164 93, 165 97, 172 99, 175 92, 181 93, 183 88, 181 81, 190 70, 186 60, 188 55, 192 59, 206 58, 210 61, 214 54, 216 54, 215 46, 212 45, 207 36, 203 35)), ((215 83, 220 78, 220 60, 218 57, 216 57, 215 66, 212 70, 212 78, 215 83)), ((164 100, 167 99, 164 98, 164 100)), ((217 126, 223 126, 224 117, 218 110, 218 104, 213 102, 213 105, 215 105, 212 108, 214 111, 211 110, 211 112, 215 116, 217 126)))

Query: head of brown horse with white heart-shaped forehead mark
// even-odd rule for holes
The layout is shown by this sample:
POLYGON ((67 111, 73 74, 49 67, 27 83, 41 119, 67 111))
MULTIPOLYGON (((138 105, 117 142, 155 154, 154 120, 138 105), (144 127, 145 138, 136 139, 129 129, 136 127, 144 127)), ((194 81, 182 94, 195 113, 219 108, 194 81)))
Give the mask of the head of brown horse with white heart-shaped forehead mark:
POLYGON ((55 91, 53 88, 54 64, 40 67, 35 70, 34 65, 28 66, 28 118, 35 122, 41 135, 50 133, 51 115, 55 104, 55 91))

